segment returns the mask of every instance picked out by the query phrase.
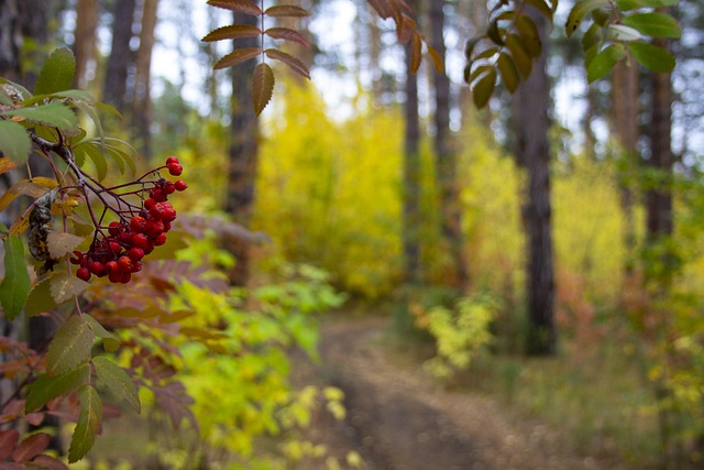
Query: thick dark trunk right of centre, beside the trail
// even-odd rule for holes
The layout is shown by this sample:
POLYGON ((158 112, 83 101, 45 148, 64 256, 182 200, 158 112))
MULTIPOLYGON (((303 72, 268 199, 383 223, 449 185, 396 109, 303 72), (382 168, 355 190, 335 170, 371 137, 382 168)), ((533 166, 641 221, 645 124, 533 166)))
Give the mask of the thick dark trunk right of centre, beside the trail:
POLYGON ((541 56, 532 73, 516 91, 516 156, 527 172, 527 194, 522 216, 527 234, 528 353, 553 354, 557 348, 554 328, 554 282, 550 207, 550 84, 546 74, 546 21, 532 15, 543 40, 541 56))

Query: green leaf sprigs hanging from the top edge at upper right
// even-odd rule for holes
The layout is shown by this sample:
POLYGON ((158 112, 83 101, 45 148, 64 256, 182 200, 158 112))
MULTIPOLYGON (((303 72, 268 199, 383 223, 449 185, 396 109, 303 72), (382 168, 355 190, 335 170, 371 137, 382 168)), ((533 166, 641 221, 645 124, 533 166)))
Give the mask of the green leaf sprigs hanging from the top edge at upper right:
MULTIPOLYGON (((571 9, 565 33, 572 36, 587 17, 591 24, 582 37, 587 80, 604 77, 623 59, 653 72, 674 68, 674 57, 651 39, 680 37, 680 26, 664 11, 676 0, 580 0, 571 9), (653 11, 656 9, 656 11, 653 11)), ((526 79, 543 48, 541 24, 553 24, 558 0, 502 1, 490 12, 488 26, 465 46, 464 80, 477 108, 486 106, 501 77, 509 92, 526 79)))

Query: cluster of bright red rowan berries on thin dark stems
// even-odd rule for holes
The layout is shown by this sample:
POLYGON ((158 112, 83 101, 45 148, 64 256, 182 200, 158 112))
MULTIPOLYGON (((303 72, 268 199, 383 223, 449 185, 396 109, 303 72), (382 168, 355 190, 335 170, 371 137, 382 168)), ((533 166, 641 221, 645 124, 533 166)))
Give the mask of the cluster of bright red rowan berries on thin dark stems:
MULTIPOLYGON (((168 168, 174 176, 180 175, 184 170, 175 156, 169 156, 166 165, 161 168, 168 168)), ((120 220, 110 222, 107 228, 96 229, 94 241, 86 253, 74 252, 75 258, 70 262, 80 266, 76 270, 76 277, 88 281, 91 275, 108 276, 110 282, 127 284, 133 273, 142 270, 142 259, 155 247, 166 243, 166 232, 176 219, 176 210, 166 199, 170 194, 183 192, 188 186, 183 181, 170 182, 162 177, 152 182, 142 179, 134 183, 142 186, 140 190, 128 193, 139 195, 141 205, 134 206, 121 200, 130 209, 117 210, 120 220), (145 194, 148 194, 146 199, 145 194)))

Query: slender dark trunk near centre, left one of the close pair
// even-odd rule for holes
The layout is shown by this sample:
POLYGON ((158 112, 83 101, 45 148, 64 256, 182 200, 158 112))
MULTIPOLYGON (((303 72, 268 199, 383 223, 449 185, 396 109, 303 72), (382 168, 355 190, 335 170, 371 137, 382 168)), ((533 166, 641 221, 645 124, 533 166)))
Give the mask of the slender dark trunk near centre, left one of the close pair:
MULTIPOLYGON (((407 2, 413 11, 418 11, 418 1, 407 2)), ((418 77, 411 70, 411 46, 405 45, 406 53, 406 102, 404 117, 404 261, 406 280, 420 284, 420 123, 418 121, 418 77)))

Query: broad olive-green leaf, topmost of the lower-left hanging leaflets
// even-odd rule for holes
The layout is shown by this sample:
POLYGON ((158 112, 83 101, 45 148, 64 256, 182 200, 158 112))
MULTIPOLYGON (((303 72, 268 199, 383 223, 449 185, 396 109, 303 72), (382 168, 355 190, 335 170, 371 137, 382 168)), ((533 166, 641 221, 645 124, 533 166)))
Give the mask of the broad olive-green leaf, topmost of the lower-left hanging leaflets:
POLYGON ((72 315, 56 331, 46 352, 46 371, 61 374, 74 369, 88 358, 96 339, 86 319, 72 315))

